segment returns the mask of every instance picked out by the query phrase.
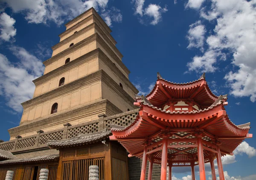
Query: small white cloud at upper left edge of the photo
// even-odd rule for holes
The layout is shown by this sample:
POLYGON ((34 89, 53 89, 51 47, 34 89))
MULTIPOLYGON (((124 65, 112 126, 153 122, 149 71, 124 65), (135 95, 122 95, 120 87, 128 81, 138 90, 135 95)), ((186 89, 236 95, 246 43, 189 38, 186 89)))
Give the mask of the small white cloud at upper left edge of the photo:
POLYGON ((0 39, 10 41, 16 35, 16 29, 14 28, 15 22, 15 19, 5 12, 0 14, 0 39))

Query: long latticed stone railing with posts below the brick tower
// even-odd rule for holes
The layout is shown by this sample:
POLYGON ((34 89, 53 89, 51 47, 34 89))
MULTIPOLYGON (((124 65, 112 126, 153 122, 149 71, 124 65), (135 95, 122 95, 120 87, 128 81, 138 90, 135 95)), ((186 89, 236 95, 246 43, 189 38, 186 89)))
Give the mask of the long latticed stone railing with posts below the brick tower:
POLYGON ((64 123, 64 128, 54 131, 44 132, 38 130, 37 134, 29 137, 16 136, 15 140, 0 142, 0 149, 18 152, 32 149, 47 148, 47 140, 62 140, 76 137, 78 134, 90 134, 103 129, 110 129, 110 124, 127 126, 137 117, 138 109, 134 109, 121 114, 106 117, 105 114, 99 114, 99 119, 90 122, 71 125, 64 123))

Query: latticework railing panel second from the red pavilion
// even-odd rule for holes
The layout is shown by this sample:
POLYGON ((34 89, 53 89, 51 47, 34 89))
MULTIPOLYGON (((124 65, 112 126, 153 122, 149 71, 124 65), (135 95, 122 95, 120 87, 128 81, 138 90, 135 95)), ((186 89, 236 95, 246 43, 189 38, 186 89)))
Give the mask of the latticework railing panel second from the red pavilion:
POLYGON ((76 137, 78 134, 90 134, 98 132, 98 123, 79 126, 67 130, 67 138, 76 137))

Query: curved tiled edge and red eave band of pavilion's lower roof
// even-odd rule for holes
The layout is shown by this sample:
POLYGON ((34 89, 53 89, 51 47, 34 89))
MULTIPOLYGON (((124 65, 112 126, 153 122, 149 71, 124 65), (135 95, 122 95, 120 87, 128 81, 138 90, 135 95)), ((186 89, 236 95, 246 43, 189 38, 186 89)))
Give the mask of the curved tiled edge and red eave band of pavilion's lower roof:
POLYGON ((199 111, 165 111, 158 109, 151 104, 142 101, 138 103, 140 105, 139 114, 137 115, 134 122, 130 125, 123 127, 111 126, 111 131, 116 137, 127 137, 140 129, 143 121, 150 121, 151 128, 166 129, 168 126, 172 128, 199 128, 204 129, 207 126, 213 126, 214 123, 222 123, 226 126, 226 130, 230 131, 230 134, 237 136, 246 136, 250 126, 236 126, 228 118, 224 106, 227 102, 219 98, 215 103, 207 109, 199 111), (175 124, 175 125, 174 125, 175 124))

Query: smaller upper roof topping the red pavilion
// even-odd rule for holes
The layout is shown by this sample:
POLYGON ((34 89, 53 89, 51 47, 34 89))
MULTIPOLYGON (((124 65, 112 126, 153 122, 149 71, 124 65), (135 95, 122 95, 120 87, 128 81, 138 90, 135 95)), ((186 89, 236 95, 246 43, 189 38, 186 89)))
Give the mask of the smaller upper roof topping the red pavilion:
MULTIPOLYGON (((192 99, 203 107, 209 107, 218 99, 218 96, 209 89, 205 80, 205 73, 198 80, 187 83, 173 83, 163 79, 157 73, 157 82, 152 91, 145 97, 156 107, 162 106, 169 100, 180 99, 192 99)), ((141 97, 137 96, 136 100, 140 102, 141 97)))

